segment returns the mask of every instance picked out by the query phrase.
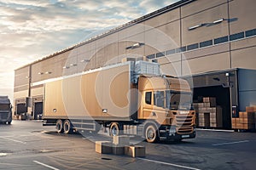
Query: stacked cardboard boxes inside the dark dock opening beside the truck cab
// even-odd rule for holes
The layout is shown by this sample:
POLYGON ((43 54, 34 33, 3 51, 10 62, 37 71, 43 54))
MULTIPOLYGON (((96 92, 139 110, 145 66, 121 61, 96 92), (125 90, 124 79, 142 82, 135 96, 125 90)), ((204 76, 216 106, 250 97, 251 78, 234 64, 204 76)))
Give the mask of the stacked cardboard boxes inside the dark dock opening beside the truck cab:
POLYGON ((216 98, 204 97, 201 103, 194 103, 198 127, 223 127, 222 109, 216 105, 216 98))

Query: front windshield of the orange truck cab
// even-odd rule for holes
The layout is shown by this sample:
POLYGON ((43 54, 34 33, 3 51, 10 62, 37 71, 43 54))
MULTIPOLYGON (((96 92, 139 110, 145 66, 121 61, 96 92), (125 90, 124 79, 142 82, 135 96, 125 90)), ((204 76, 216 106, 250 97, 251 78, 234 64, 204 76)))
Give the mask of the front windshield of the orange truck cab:
POLYGON ((192 94, 166 90, 166 107, 170 110, 190 110, 192 94))

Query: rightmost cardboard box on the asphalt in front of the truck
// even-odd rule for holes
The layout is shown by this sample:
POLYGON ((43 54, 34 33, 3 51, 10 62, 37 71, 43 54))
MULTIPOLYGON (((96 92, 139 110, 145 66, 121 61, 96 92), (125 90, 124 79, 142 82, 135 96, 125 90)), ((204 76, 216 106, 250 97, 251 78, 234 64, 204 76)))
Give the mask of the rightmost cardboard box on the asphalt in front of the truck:
POLYGON ((131 157, 145 157, 146 149, 142 145, 125 146, 125 155, 131 157))

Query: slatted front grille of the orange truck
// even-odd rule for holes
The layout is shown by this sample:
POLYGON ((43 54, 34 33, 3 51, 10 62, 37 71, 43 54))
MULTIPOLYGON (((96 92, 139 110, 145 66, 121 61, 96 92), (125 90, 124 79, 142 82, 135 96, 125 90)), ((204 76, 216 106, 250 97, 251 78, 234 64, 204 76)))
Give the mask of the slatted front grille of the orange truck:
POLYGON ((176 131, 178 134, 193 133, 193 116, 192 115, 177 115, 176 116, 176 131))

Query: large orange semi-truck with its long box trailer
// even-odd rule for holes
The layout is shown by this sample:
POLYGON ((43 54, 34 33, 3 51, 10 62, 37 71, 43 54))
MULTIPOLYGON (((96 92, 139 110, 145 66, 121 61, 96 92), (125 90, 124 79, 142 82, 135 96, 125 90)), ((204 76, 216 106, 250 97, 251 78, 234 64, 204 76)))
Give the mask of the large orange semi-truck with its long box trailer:
POLYGON ((138 135, 149 143, 195 138, 189 83, 137 59, 44 82, 43 125, 58 133, 138 135))

